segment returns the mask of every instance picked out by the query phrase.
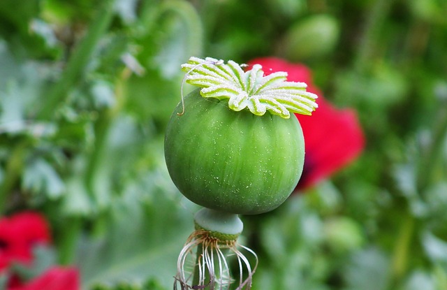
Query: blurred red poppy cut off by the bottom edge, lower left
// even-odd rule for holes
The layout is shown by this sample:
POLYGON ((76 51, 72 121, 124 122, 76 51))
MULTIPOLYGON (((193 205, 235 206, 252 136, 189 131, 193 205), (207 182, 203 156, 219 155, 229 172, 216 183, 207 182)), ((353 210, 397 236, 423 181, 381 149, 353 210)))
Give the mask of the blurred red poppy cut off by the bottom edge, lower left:
POLYGON ((19 287, 8 290, 79 290, 79 274, 75 268, 54 267, 19 287))

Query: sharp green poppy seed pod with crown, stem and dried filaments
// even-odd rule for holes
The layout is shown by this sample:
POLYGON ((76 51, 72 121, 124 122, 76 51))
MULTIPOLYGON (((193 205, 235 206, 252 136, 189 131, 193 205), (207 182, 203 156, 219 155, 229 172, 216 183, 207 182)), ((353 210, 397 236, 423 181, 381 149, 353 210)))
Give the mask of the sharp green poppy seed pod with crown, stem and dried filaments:
MULTIPOLYGON (((166 128, 165 159, 171 179, 189 200, 204 208, 194 216, 193 231, 177 259, 182 289, 230 289, 233 282, 225 252, 237 256, 237 289, 251 289, 258 257, 237 244, 239 214, 277 208, 296 187, 305 159, 304 137, 292 113, 311 115, 316 95, 306 84, 287 82, 287 73, 264 76, 234 61, 191 57, 182 82, 201 89, 175 108, 166 128), (185 262, 197 247, 196 270, 185 262), (241 252, 254 256, 255 266, 241 252), (192 282, 190 284, 190 280, 192 282)), ((183 92, 183 90, 182 90, 183 92)))

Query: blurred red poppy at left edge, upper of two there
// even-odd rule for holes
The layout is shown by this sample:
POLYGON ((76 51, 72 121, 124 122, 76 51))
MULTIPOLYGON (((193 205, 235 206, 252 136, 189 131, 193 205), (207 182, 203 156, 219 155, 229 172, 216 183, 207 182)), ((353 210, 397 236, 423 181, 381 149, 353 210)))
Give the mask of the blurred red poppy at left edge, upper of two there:
POLYGON ((13 261, 31 263, 35 245, 50 243, 50 230, 37 212, 20 212, 0 219, 0 270, 13 261))

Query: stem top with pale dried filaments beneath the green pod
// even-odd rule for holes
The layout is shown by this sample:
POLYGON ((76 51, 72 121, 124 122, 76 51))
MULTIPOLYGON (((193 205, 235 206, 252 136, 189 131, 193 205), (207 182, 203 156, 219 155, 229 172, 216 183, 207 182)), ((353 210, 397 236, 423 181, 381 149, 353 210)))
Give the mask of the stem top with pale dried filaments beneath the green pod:
POLYGON ((229 289, 237 280, 231 276, 229 259, 235 259, 238 264, 239 280, 237 290, 251 289, 251 280, 258 264, 256 254, 237 243, 237 237, 242 232, 242 222, 237 215, 229 215, 204 208, 195 217, 196 231, 189 235, 177 260, 177 275, 174 289, 229 289), (210 224, 217 223, 221 217, 221 226, 216 229, 203 229, 204 219, 208 228, 210 224), (211 222, 210 222, 211 221, 211 222), (239 249, 240 248, 240 249, 239 249), (255 265, 252 268, 249 259, 243 252, 254 257, 255 265), (188 266, 192 261, 193 268, 188 266))

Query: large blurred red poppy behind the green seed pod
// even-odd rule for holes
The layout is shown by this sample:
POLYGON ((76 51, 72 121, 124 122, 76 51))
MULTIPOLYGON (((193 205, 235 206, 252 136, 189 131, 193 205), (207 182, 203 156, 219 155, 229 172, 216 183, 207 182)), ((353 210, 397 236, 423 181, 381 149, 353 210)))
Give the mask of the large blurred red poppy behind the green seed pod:
POLYGON ((305 136, 305 166, 297 189, 312 187, 318 181, 339 171, 356 159, 365 147, 365 137, 356 112, 339 110, 323 99, 314 87, 312 74, 302 64, 290 64, 274 57, 249 61, 250 65, 261 64, 266 75, 286 71, 288 80, 305 82, 307 90, 318 95, 318 108, 312 116, 295 114, 305 136))

